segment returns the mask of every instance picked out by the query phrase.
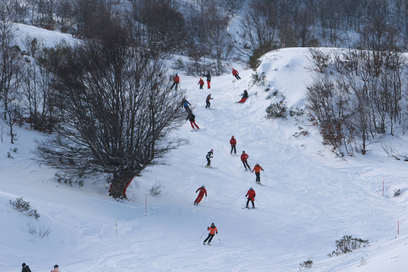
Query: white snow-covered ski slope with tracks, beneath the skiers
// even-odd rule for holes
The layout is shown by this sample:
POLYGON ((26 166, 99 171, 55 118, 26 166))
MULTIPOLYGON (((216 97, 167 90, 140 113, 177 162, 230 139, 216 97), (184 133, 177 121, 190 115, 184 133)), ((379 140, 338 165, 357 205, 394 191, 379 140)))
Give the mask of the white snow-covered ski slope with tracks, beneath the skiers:
MULTIPOLYGON (((288 106, 303 107, 305 85, 315 73, 304 68, 307 55, 305 48, 273 51, 257 69, 265 72, 272 89, 280 90, 278 96, 286 96, 288 106)), ((20 271, 23 262, 33 272, 48 272, 54 264, 61 272, 299 271, 308 257, 313 259, 308 271, 407 271, 406 162, 384 157, 379 143, 364 156, 335 157, 307 117, 264 118, 274 100, 266 99, 266 87, 249 83, 253 71, 238 71, 242 80, 234 84, 232 74, 214 76, 210 90, 199 90, 198 77, 179 73, 200 130, 191 132, 186 122, 178 133, 191 145, 172 152, 169 166, 146 169, 137 178, 140 188, 134 183, 128 188, 129 201, 109 197, 97 178, 86 180, 82 188, 59 184, 56 170, 39 165, 30 153, 32 140, 46 136, 26 125, 15 127, 18 140, 10 144, 4 132, 0 271, 20 271), (234 104, 244 89, 248 100, 234 104), (214 111, 204 108, 210 92, 214 111), (310 134, 293 137, 299 126, 310 134), (259 162, 264 168, 265 186, 254 183, 255 173, 243 171, 239 156, 230 155, 231 135, 237 139, 237 155, 245 150, 252 166, 259 162), (218 169, 200 167, 210 149, 218 169), (164 186, 158 198, 149 194, 156 180, 164 186), (193 206, 202 184, 208 197, 193 206), (250 186, 259 208, 242 209, 250 186), (393 198, 395 188, 401 188, 401 195, 393 198), (12 209, 9 200, 18 197, 38 211, 38 221, 12 209), (211 247, 204 246, 212 222, 218 236, 211 247), (28 223, 52 231, 40 239, 27 231, 28 223), (370 246, 328 258, 335 240, 344 235, 369 239, 370 246)), ((397 134, 383 141, 408 144, 397 134)))

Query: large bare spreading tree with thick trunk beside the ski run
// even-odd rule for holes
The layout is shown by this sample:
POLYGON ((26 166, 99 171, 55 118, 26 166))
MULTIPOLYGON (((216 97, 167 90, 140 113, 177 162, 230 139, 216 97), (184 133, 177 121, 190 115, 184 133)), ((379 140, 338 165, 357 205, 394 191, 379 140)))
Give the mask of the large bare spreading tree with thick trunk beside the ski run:
POLYGON ((163 65, 114 21, 75 46, 55 67, 64 116, 37 142, 38 159, 71 175, 110 174, 110 195, 126 197, 133 177, 187 143, 173 133, 184 123, 184 91, 164 83, 163 65))

